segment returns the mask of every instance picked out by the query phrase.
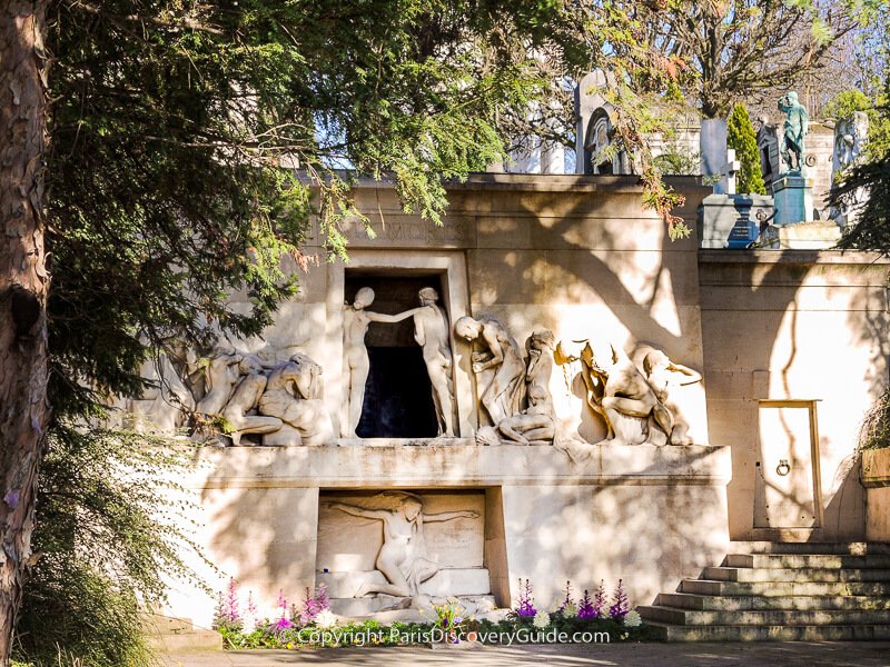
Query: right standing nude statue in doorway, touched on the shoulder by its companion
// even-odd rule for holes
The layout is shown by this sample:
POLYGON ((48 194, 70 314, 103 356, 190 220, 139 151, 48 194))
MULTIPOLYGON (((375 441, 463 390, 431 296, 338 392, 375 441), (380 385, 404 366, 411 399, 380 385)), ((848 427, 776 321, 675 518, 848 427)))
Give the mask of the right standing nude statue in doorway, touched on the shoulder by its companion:
POLYGON ((452 394, 452 348, 448 320, 438 307, 438 292, 425 287, 418 292, 421 308, 414 310, 414 340, 423 348, 426 372, 433 387, 438 435, 454 436, 454 395, 452 394))

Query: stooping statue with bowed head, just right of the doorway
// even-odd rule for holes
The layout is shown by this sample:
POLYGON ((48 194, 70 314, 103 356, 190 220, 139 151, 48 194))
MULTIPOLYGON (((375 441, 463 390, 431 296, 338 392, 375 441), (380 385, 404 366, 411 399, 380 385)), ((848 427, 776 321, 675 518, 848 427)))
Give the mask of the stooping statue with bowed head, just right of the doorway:
POLYGON ((478 340, 485 347, 473 352, 471 359, 479 382, 479 401, 492 424, 498 425, 520 414, 525 400, 525 364, 510 331, 492 317, 478 320, 462 317, 454 323, 454 332, 467 342, 478 340))

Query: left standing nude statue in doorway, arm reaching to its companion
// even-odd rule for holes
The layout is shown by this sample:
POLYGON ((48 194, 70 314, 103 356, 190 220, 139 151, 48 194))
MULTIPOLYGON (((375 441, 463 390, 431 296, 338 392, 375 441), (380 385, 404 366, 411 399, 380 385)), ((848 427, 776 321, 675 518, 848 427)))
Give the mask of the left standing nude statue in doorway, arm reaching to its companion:
POLYGON ((346 369, 349 377, 346 381, 346 422, 343 426, 344 438, 357 438, 355 429, 362 419, 362 406, 365 402, 365 382, 370 370, 368 348, 365 346, 365 334, 370 322, 400 322, 417 312, 418 308, 384 315, 366 310, 374 302, 374 290, 363 287, 353 303, 343 307, 343 349, 346 357, 346 369))

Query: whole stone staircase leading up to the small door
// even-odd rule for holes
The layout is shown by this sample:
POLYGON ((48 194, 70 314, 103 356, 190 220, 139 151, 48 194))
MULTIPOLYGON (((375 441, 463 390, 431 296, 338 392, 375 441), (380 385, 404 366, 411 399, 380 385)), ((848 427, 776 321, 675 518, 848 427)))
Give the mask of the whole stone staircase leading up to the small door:
POLYGON ((890 639, 890 544, 734 542, 637 607, 669 641, 890 639))

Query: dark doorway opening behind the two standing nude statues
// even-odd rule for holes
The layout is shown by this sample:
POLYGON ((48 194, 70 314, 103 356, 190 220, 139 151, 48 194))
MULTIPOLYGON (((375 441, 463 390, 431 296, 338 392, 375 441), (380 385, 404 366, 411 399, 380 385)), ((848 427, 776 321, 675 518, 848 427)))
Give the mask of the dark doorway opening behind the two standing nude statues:
MULTIPOLYGON (((396 315, 419 306, 417 292, 432 287, 447 312, 442 273, 382 275, 347 271, 346 301, 363 287, 374 290, 369 311, 396 315)), ((414 320, 372 322, 365 336, 370 372, 365 384, 359 438, 434 438, 436 412, 423 351, 414 340, 414 320)))

